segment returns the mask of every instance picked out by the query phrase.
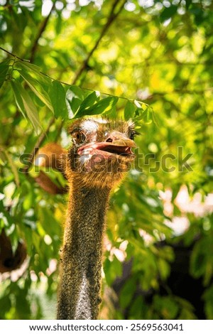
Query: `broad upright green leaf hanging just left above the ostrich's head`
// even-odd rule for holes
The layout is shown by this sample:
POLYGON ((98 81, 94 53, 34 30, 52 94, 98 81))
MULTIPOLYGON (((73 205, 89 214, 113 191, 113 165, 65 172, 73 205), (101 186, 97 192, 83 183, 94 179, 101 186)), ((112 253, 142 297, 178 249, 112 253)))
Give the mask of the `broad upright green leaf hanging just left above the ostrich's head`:
POLYGON ((62 84, 54 80, 50 86, 49 95, 53 104, 55 117, 62 117, 62 119, 67 119, 67 107, 65 103, 66 93, 62 84))

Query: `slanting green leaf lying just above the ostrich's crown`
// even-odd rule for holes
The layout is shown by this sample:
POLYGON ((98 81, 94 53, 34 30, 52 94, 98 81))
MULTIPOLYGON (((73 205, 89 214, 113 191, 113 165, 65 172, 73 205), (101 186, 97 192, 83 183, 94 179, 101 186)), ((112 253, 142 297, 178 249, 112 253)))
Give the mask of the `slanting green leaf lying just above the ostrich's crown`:
POLYGON ((80 118, 86 115, 104 114, 106 112, 109 112, 112 107, 114 107, 118 99, 118 97, 105 97, 104 99, 101 99, 99 102, 94 104, 92 107, 89 107, 86 110, 82 110, 82 112, 80 112, 79 110, 79 112, 75 114, 75 118, 80 118))

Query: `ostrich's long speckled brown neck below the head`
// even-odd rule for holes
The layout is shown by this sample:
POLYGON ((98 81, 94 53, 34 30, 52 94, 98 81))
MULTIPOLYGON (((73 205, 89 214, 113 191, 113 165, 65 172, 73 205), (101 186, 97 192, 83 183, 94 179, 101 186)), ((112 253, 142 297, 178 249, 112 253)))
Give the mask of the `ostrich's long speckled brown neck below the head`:
MULTIPOLYGON (((74 181, 73 181, 74 183, 74 181)), ((59 319, 96 319, 109 189, 70 187, 58 296, 59 319)))

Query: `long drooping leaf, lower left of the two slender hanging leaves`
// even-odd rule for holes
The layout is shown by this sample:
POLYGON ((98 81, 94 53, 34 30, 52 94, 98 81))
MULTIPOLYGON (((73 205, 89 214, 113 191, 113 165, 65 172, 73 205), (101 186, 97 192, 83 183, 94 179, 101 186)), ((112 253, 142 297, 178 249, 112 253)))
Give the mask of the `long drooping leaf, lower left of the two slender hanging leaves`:
POLYGON ((26 92, 26 90, 24 90, 21 84, 17 81, 14 82, 11 80, 11 87, 18 109, 24 117, 27 117, 30 120, 35 132, 38 133, 38 129, 41 129, 41 126, 38 118, 38 112, 30 95, 28 95, 28 92, 26 92))

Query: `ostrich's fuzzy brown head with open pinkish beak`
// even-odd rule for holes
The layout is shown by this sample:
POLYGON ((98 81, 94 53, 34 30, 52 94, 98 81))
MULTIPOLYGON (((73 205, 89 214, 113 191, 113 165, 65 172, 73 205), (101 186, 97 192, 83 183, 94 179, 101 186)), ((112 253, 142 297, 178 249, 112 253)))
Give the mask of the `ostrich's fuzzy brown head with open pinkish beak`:
POLYGON ((100 117, 77 120, 70 126, 72 147, 68 151, 68 181, 75 178, 85 186, 111 188, 129 171, 135 158, 133 122, 100 117))

